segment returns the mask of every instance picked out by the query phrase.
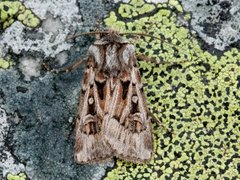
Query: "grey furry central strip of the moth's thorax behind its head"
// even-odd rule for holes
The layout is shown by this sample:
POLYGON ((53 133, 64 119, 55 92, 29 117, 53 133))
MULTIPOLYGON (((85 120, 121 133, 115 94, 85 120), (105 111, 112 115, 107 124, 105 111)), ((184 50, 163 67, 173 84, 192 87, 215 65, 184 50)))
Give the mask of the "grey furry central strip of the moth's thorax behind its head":
POLYGON ((104 71, 112 76, 117 76, 121 71, 121 63, 119 61, 116 44, 109 44, 107 46, 105 57, 104 71))

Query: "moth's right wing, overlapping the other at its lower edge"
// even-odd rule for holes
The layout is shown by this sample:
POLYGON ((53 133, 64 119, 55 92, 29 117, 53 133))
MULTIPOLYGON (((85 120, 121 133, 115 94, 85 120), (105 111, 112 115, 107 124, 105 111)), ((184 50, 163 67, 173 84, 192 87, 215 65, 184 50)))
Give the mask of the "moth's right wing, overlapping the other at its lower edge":
POLYGON ((115 156, 135 163, 148 161, 152 129, 138 68, 123 72, 115 84, 111 109, 104 117, 104 136, 115 156))

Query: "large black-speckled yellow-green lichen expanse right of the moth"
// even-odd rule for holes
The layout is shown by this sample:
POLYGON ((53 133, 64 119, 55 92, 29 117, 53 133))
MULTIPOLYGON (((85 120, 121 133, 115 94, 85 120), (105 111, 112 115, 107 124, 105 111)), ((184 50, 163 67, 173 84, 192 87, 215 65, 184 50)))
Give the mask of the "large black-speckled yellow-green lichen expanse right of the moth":
MULTIPOLYGON (((179 62, 139 62, 148 107, 173 133, 153 123, 153 159, 143 165, 118 160, 105 179, 240 178, 239 50, 232 48, 220 57, 203 51, 189 30, 177 25, 177 14, 171 11, 183 12, 177 0, 147 4, 152 7, 145 12, 148 16, 142 11, 145 4, 122 3, 118 15, 110 12, 105 23, 124 32, 164 37, 142 37, 135 45, 137 53, 179 62)), ((189 18, 186 13, 184 19, 189 18)))

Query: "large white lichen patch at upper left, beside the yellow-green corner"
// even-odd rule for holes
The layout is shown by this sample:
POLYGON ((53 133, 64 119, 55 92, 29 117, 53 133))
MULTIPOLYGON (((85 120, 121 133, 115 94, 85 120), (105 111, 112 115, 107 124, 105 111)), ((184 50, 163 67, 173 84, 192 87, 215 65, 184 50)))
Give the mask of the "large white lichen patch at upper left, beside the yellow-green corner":
POLYGON ((15 21, 1 35, 1 56, 12 49, 15 54, 34 51, 41 52, 46 57, 55 57, 59 52, 70 49, 72 44, 67 43, 65 38, 82 25, 75 0, 59 0, 57 3, 54 0, 27 0, 24 5, 42 20, 42 25, 29 38, 29 31, 25 31, 29 28, 15 21))

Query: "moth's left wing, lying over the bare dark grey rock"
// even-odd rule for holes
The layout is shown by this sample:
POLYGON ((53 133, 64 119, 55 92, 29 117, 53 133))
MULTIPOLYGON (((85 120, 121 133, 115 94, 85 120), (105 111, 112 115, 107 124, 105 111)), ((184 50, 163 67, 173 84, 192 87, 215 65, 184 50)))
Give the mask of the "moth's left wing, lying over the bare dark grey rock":
POLYGON ((77 163, 98 163, 112 158, 112 150, 102 136, 104 116, 104 85, 96 82, 92 67, 84 74, 80 96, 79 117, 76 121, 74 158, 77 163), (100 97, 101 96, 101 97, 100 97))

